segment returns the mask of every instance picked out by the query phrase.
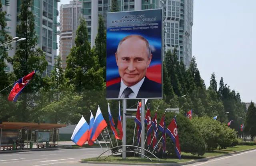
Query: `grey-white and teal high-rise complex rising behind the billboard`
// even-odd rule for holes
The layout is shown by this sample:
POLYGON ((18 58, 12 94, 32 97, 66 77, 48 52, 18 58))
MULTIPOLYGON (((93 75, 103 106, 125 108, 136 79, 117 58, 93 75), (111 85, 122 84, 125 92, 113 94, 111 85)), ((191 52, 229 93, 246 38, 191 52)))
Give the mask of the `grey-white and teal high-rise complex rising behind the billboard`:
MULTIPOLYGON (((101 15, 106 20, 106 14, 110 12, 111 0, 79 1, 82 7, 81 13, 86 18, 89 40, 91 41, 91 46, 93 46, 98 33, 98 16, 101 15)), ((173 51, 174 47, 177 46, 178 59, 183 60, 186 67, 189 66, 192 59, 193 3, 193 0, 118 0, 119 11, 163 8, 163 50, 173 51)), ((79 12, 79 10, 74 11, 79 12)), ((80 16, 80 14, 76 15, 80 16)), ((71 18, 74 20, 73 16, 71 18)), ((71 24, 77 26, 74 22, 71 24)))

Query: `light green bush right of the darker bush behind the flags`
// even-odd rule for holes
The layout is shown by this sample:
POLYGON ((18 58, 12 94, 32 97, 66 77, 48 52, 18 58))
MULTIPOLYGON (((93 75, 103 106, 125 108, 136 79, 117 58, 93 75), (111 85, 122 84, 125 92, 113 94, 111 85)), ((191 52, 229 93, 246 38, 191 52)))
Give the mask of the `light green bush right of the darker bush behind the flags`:
POLYGON ((219 121, 207 116, 194 117, 192 123, 202 134, 207 150, 213 150, 217 147, 222 149, 238 144, 236 132, 226 124, 221 124, 219 121))

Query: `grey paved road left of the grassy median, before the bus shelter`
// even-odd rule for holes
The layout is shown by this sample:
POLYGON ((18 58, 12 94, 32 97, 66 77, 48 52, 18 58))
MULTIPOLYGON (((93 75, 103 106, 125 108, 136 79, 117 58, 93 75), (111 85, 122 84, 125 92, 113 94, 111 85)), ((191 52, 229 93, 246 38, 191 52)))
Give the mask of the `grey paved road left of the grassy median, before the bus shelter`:
POLYGON ((4 153, 0 154, 0 166, 79 166, 79 159, 97 157, 101 153, 101 148, 4 153))

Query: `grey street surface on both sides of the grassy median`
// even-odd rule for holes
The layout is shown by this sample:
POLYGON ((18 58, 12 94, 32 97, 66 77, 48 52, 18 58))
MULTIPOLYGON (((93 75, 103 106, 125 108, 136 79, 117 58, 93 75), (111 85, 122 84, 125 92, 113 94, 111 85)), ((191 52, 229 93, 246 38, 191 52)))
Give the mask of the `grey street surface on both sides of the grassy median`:
MULTIPOLYGON (((1 166, 102 166, 102 164, 81 164, 79 159, 97 157, 102 153, 101 148, 79 148, 79 149, 60 149, 44 150, 32 152, 18 152, 0 154, 1 166)), ((184 166, 241 166, 254 165, 256 150, 251 150, 231 156, 224 156, 208 160, 206 162, 197 162, 184 166)), ((136 165, 136 164, 134 164, 136 165)), ((118 165, 116 165, 118 166, 118 165)), ((122 165, 119 165, 122 166, 122 165)))

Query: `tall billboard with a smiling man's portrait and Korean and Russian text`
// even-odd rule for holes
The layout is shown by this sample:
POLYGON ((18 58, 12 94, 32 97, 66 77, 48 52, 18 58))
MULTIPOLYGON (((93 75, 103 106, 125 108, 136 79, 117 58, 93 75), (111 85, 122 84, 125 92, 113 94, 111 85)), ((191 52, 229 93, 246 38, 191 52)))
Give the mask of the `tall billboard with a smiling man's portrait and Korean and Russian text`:
POLYGON ((107 13, 106 99, 162 99, 162 9, 107 13))

